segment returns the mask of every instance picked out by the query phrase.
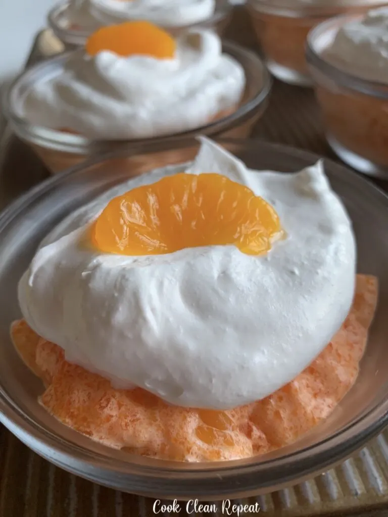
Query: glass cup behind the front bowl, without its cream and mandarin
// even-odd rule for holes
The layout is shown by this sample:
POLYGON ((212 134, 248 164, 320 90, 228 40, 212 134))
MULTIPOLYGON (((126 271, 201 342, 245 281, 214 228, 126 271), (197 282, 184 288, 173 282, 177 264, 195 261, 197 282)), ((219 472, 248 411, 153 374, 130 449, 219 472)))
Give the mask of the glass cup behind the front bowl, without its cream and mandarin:
MULTIPOLYGON (((142 149, 152 149, 155 144, 163 144, 165 148, 171 148, 177 141, 198 134, 247 138, 266 108, 272 85, 271 77, 259 57, 252 52, 231 42, 223 42, 223 51, 236 59, 244 68, 246 87, 243 99, 233 113, 220 113, 206 126, 192 130, 158 138, 113 142, 93 141, 79 134, 30 124, 22 113, 23 100, 28 89, 38 81, 61 73, 69 53, 46 60, 22 73, 5 92, 4 113, 14 132, 34 149, 52 173, 61 172, 80 163, 87 156, 119 146, 132 149, 133 154, 136 154, 139 146, 142 149)), ((142 157, 137 155, 133 160, 138 165, 142 157)), ((145 163, 148 163, 147 159, 145 163)))

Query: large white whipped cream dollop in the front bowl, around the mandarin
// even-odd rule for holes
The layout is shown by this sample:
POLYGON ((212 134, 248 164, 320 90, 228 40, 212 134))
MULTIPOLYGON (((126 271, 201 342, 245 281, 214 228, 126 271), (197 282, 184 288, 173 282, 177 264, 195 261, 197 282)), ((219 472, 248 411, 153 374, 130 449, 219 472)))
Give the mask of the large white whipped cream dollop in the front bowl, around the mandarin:
POLYGON ((355 243, 319 162, 256 172, 208 140, 190 166, 131 179, 68 216, 19 283, 27 323, 69 361, 181 406, 249 403, 291 381, 344 322, 355 243), (85 235, 109 200, 181 172, 216 172, 271 203, 287 237, 265 255, 234 246, 104 254, 85 235))

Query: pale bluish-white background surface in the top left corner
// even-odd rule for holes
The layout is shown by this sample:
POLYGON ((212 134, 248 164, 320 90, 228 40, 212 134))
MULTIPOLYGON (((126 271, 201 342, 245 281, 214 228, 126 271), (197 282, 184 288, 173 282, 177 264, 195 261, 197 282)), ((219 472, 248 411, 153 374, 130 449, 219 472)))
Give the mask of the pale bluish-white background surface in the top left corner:
POLYGON ((0 0, 0 84, 23 66, 35 34, 58 0, 0 0))

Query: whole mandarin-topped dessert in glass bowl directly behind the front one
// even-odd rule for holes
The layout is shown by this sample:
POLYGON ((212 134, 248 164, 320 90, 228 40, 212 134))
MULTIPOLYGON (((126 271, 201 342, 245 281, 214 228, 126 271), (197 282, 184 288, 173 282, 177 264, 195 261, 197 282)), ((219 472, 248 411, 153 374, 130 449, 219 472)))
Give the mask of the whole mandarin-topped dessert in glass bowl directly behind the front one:
POLYGON ((107 32, 110 37, 127 24, 105 27, 89 38, 87 51, 29 68, 6 92, 4 112, 14 132, 51 172, 121 145, 135 155, 139 145, 171 147, 196 134, 246 138, 263 114, 271 78, 255 54, 234 43, 221 44, 204 29, 175 40, 147 22, 130 25, 140 36, 145 25, 158 42, 148 38, 151 50, 126 48, 125 56, 121 48, 107 51, 106 43, 100 50, 100 33, 102 39, 107 32), (170 58, 152 52, 168 52, 170 58))

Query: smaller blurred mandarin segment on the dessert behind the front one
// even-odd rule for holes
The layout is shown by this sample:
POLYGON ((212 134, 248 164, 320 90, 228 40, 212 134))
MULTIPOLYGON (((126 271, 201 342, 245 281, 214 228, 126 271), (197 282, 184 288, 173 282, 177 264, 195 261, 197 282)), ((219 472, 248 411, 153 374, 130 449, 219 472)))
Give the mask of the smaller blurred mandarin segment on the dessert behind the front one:
POLYGON ((171 59, 175 48, 175 40, 169 33, 146 21, 99 28, 86 42, 86 52, 91 56, 107 50, 123 57, 143 55, 171 59))

